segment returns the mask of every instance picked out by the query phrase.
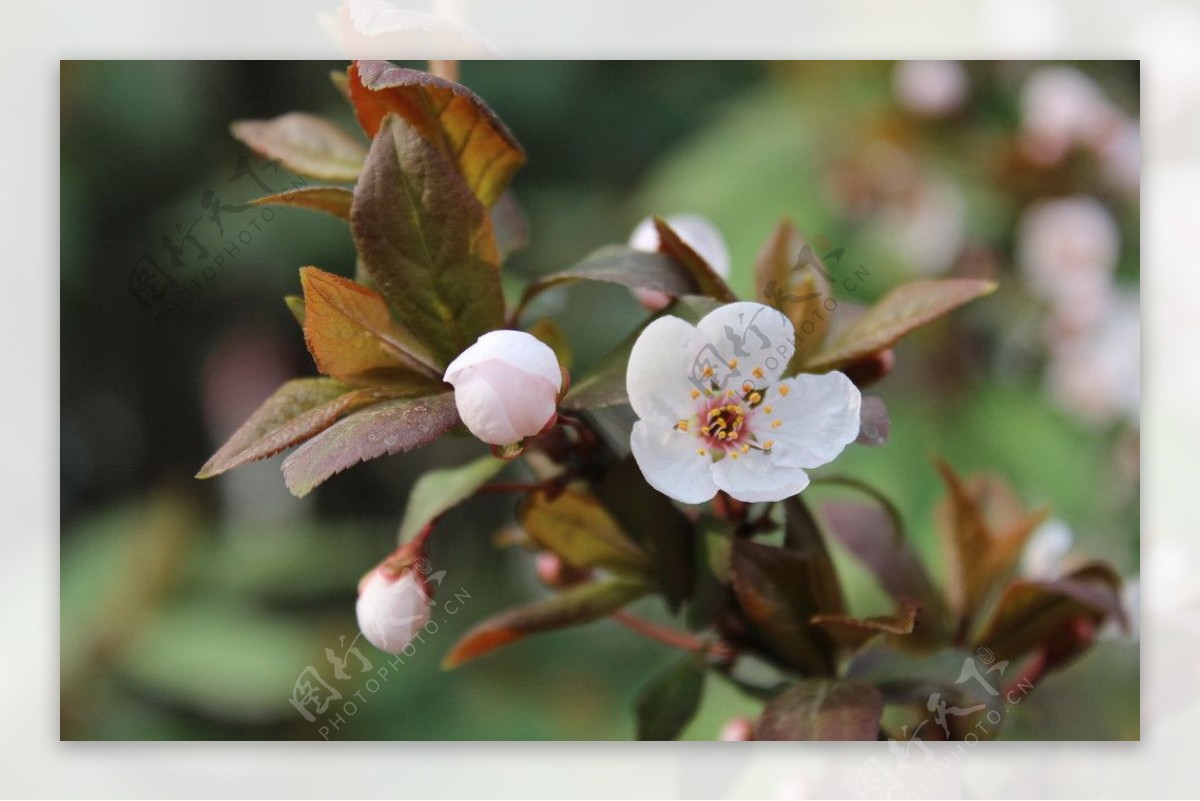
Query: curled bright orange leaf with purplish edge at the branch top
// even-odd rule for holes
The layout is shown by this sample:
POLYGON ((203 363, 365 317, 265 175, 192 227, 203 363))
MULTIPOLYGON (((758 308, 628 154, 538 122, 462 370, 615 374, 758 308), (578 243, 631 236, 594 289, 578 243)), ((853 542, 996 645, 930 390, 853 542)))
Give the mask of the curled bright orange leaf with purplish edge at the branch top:
POLYGON ((473 91, 426 72, 388 61, 356 61, 350 101, 368 137, 398 114, 462 175, 485 206, 504 192, 526 155, 508 127, 473 91))

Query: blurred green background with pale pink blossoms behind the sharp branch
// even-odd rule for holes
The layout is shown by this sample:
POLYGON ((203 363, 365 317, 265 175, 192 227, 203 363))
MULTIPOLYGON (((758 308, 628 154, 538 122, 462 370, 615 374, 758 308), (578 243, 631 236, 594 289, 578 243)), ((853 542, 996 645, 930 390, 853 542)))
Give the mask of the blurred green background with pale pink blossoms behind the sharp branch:
MULTIPOLYGON (((391 657, 360 640, 372 669, 352 657, 350 677, 332 682, 326 649, 350 645, 356 580, 394 547, 413 481, 482 453, 478 442, 361 465, 302 501, 280 458, 192 478, 280 383, 314 372, 281 300, 299 293, 298 267, 353 273, 332 218, 227 211, 216 230, 205 192, 228 206, 259 194, 238 176, 245 151, 228 124, 306 110, 358 131, 329 80, 344 66, 62 64, 61 736, 631 737, 632 698, 673 654, 614 624, 440 670, 469 625, 544 592, 527 554, 492 544, 512 520, 504 496, 468 502, 433 540, 443 588, 469 596, 438 633, 376 685, 391 657), (190 227, 211 252, 239 248, 211 278, 170 263, 164 237, 190 227), (130 276, 144 255, 191 288, 187 302, 139 303, 130 276), (343 693, 312 722, 289 703, 308 667, 343 693)), ((865 271, 853 293, 835 290, 846 305, 911 279, 1000 281, 898 348, 871 390, 892 441, 833 469, 888 493, 934 565, 941 454, 1051 505, 1074 534, 1067 559, 1136 577, 1136 62, 472 62, 462 80, 529 156, 514 189, 532 245, 505 266, 511 291, 625 241, 648 213, 677 212, 721 229, 743 297, 785 215, 845 248, 841 270, 865 271), (1045 264, 1100 296, 1099 311, 1063 303, 1045 264)), ((620 288, 581 285, 527 319, 541 315, 564 325, 582 375, 643 312, 620 288)), ((863 572, 838 564, 854 612, 880 610, 863 572)), ((649 602, 637 612, 664 615, 649 602)), ((1105 638, 1014 707, 1004 736, 1135 739, 1138 694, 1135 638, 1105 638)), ((710 680, 686 735, 714 739, 756 709, 710 680)))

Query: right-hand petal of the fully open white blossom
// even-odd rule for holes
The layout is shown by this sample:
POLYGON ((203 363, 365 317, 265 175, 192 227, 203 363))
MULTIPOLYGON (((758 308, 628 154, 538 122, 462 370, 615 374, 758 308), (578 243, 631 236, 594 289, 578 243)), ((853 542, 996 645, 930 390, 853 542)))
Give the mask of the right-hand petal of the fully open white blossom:
POLYGON ((781 422, 779 428, 763 428, 775 442, 772 460, 791 468, 832 462, 858 436, 862 405, 862 393, 842 373, 797 375, 773 385, 763 401, 763 408, 772 406, 769 417, 781 422), (786 396, 779 392, 781 386, 788 389, 786 396))

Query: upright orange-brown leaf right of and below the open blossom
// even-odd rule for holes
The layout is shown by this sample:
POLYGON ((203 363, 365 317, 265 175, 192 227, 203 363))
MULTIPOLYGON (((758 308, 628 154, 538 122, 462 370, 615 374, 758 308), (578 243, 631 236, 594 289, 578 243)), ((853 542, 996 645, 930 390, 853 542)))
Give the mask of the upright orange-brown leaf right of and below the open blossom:
POLYGON ((1021 558, 1045 510, 1028 512, 1003 478, 960 478, 944 462, 937 469, 947 496, 935 510, 954 610, 968 624, 1021 558))

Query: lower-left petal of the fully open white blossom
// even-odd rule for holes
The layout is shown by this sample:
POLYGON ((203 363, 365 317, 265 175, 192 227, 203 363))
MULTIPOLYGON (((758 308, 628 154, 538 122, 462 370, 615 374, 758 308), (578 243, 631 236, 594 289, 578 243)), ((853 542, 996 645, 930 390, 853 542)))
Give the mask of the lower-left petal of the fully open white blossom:
POLYGON ((716 494, 713 462, 696 451, 700 439, 676 430, 674 421, 652 417, 634 423, 629 446, 646 481, 664 495, 684 504, 703 504, 716 494))

